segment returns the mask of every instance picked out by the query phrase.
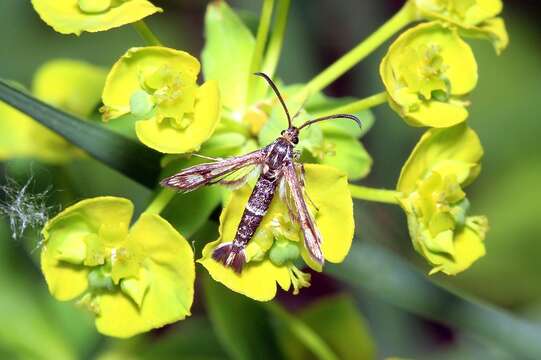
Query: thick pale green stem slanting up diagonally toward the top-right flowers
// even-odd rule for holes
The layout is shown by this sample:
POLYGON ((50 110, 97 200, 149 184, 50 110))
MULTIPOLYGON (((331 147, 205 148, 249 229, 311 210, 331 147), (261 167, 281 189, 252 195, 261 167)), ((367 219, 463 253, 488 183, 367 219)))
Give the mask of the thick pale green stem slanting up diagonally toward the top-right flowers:
POLYGON ((400 9, 392 18, 377 29, 348 53, 336 60, 331 66, 314 77, 303 90, 303 96, 314 94, 331 84, 355 64, 370 55, 381 44, 391 36, 400 31, 403 27, 415 20, 415 8, 410 1, 400 9))

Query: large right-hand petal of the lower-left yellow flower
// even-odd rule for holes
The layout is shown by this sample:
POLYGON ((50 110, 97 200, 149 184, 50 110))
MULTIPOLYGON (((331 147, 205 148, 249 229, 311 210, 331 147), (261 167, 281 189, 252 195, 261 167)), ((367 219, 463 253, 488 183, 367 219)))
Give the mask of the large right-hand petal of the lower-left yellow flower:
POLYGON ((125 289, 126 294, 119 291, 101 295, 98 330, 110 336, 130 337, 190 315, 195 266, 186 239, 160 216, 143 213, 131 228, 128 242, 140 245, 147 258, 142 264, 146 273, 141 276, 148 274, 148 286, 139 285, 148 289, 142 298, 142 289, 139 293, 125 289))

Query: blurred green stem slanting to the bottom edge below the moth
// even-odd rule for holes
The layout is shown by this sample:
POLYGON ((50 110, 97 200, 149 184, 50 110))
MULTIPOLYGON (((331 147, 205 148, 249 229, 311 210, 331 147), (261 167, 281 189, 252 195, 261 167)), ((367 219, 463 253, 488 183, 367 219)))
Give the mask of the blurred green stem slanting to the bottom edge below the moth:
POLYGON ((331 348, 308 325, 288 313, 276 303, 265 303, 264 306, 276 317, 280 318, 295 335, 318 359, 338 360, 331 348))

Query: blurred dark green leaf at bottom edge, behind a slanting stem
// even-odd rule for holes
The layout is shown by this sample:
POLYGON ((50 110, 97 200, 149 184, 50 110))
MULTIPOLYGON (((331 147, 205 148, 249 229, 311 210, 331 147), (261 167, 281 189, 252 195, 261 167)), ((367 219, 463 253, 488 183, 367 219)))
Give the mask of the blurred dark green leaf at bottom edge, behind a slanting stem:
MULTIPOLYGON (((346 295, 323 298, 304 308, 297 317, 312 328, 331 350, 343 360, 375 358, 375 345, 366 321, 354 301, 346 295), (347 336, 344 336, 347 334, 347 336)), ((280 331, 279 339, 290 359, 311 359, 309 349, 295 340, 289 331, 280 331)))

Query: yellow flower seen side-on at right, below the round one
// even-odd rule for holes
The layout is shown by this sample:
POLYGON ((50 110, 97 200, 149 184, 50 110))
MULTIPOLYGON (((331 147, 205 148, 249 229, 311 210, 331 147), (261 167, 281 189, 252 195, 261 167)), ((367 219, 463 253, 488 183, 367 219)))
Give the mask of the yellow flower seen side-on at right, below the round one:
POLYGON ((430 273, 455 275, 485 254, 488 221, 468 216, 463 188, 479 174, 483 149, 464 124, 427 131, 402 168, 397 190, 413 246, 430 273))

